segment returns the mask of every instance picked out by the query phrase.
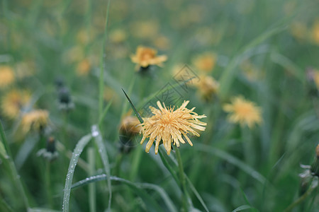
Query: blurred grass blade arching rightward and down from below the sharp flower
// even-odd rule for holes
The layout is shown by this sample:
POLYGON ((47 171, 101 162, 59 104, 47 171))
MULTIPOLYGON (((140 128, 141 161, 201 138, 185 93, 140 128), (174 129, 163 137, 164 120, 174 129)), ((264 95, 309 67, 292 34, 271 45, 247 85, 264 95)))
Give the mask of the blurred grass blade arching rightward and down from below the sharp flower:
POLYGON ((199 151, 211 153, 212 155, 215 155, 219 158, 222 158, 222 159, 228 161, 228 163, 231 163, 231 164, 239 167, 241 170, 246 172, 248 175, 250 175, 254 179, 257 179, 262 184, 267 182, 267 179, 264 176, 262 176, 262 174, 260 174, 256 170, 254 170, 249 165, 246 165, 241 160, 235 158, 233 155, 226 153, 225 151, 221 151, 219 149, 212 148, 211 146, 207 146, 207 145, 203 145, 203 144, 199 144, 199 143, 198 143, 198 145, 195 146, 195 148, 197 148, 199 151))

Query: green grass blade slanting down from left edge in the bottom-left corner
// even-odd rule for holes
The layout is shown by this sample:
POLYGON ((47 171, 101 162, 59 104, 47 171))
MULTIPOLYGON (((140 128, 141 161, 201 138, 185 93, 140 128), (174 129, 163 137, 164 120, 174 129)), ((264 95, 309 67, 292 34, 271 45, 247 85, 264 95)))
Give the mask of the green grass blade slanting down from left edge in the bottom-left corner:
POLYGON ((16 170, 16 165, 13 163, 12 160, 12 153, 9 148, 9 143, 6 140, 6 135, 4 134, 4 126, 2 125, 2 122, 0 120, 0 136, 1 136, 1 141, 4 143, 4 148, 6 148, 6 153, 9 156, 6 158, 7 162, 9 163, 9 167, 11 170, 11 175, 13 177, 13 181, 16 184, 16 187, 18 187, 18 192, 21 194, 21 197, 23 199, 23 204, 26 207, 26 210, 28 211, 28 208, 30 208, 28 197, 26 196, 26 192, 23 188, 23 184, 21 182, 21 177, 18 175, 18 171, 16 170))

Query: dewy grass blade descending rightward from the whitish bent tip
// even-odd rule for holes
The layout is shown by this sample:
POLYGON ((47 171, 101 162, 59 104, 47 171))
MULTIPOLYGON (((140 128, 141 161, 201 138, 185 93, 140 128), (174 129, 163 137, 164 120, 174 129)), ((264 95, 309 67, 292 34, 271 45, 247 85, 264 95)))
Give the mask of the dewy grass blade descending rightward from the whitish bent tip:
MULTIPOLYGON (((110 163, 108 162, 108 154, 106 152, 106 148, 103 144, 103 138, 101 131, 99 130, 98 126, 94 125, 92 126, 92 136, 94 136, 94 141, 96 143, 96 146, 99 148, 99 154, 101 156, 101 160, 103 163, 104 170, 106 172, 107 176, 111 176, 110 171, 110 163)), ((111 200, 112 200, 112 188, 111 188, 111 179, 108 177, 108 211, 111 210, 111 200)))

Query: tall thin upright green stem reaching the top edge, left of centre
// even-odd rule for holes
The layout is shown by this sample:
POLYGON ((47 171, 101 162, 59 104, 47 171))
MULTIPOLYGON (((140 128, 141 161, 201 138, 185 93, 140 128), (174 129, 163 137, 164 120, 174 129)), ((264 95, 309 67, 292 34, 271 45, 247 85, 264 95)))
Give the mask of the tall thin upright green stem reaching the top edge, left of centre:
POLYGON ((104 90, 104 59, 106 58, 105 55, 105 47, 106 47, 106 35, 107 35, 107 26, 108 26, 108 11, 110 8, 110 1, 108 0, 108 6, 106 8, 106 20, 105 20, 105 29, 103 35, 103 42, 102 42, 102 51, 100 57, 100 76, 99 76, 99 117, 103 112, 103 90, 104 90))

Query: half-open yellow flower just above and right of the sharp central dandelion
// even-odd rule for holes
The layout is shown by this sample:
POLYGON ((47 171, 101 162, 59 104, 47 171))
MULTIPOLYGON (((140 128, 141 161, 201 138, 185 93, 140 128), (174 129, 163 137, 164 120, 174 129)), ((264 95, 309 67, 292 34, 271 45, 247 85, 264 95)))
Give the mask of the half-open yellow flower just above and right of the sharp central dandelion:
POLYGON ((211 100, 212 96, 218 92, 219 83, 211 76, 200 76, 198 83, 194 86, 205 100, 211 100))

